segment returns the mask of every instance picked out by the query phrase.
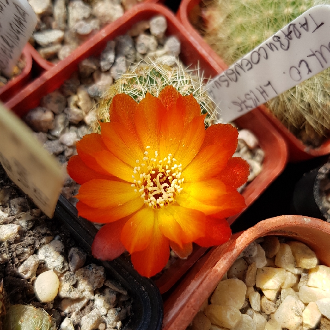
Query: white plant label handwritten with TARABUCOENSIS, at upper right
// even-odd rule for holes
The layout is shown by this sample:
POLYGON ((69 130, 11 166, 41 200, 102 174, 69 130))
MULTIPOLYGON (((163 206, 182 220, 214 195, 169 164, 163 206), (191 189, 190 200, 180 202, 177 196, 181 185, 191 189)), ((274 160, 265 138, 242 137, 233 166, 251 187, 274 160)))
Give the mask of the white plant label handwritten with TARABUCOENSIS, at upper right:
POLYGON ((330 66, 330 6, 307 10, 208 83, 231 121, 330 66))

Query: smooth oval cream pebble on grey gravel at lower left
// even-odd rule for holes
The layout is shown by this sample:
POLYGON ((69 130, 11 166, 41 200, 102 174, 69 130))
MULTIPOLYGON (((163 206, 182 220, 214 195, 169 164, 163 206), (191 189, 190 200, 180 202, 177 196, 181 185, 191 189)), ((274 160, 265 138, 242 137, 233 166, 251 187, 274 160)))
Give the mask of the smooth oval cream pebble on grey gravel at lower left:
POLYGON ((36 297, 43 303, 48 303, 55 299, 58 292, 60 281, 51 269, 38 275, 34 281, 36 297))

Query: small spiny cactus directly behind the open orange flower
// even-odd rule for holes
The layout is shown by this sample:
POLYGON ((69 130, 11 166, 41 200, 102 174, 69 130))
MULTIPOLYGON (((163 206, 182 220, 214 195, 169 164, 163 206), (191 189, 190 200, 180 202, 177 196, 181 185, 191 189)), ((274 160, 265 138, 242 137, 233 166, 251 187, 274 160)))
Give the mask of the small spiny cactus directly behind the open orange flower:
POLYGON ((203 80, 198 69, 185 68, 180 61, 175 67, 160 62, 137 65, 110 86, 98 105, 98 116, 103 122, 109 121, 109 107, 116 94, 125 93, 140 102, 148 92, 158 96, 165 86, 173 85, 183 96, 193 94, 201 106, 202 114, 207 114, 205 124, 210 125, 216 120, 216 111, 204 90, 203 80))

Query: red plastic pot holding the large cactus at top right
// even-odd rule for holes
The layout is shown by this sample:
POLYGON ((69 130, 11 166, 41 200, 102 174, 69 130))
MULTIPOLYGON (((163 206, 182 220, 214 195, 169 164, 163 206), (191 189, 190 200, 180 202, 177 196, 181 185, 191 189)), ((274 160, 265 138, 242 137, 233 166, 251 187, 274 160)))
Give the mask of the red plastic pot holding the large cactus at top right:
MULTIPOLYGON (((210 57, 210 60, 214 63, 215 69, 218 73, 226 70, 228 66, 222 61, 222 59, 215 53, 215 51, 203 40, 201 35, 193 28, 188 16, 189 13, 194 9, 195 6, 199 6, 201 0, 182 0, 180 8, 177 12, 177 17, 181 20, 183 26, 190 33, 192 38, 196 39, 200 48, 204 49, 205 54, 210 57)), ((287 143, 289 150, 289 161, 297 162, 301 160, 306 160, 314 158, 317 156, 322 156, 330 153, 330 140, 325 141, 318 148, 311 148, 304 145, 300 140, 298 140, 289 130, 265 107, 259 106, 258 109, 261 113, 276 127, 276 129, 281 133, 285 142, 287 143)))

